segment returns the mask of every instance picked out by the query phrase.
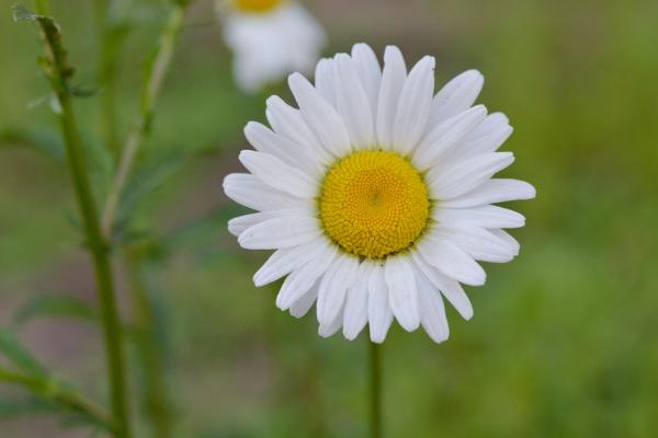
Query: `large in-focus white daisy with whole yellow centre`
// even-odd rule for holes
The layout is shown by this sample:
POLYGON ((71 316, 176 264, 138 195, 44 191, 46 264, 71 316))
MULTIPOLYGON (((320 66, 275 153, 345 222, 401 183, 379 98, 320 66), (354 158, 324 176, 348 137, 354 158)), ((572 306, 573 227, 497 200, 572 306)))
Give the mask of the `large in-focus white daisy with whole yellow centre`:
POLYGON ((299 318, 316 303, 322 336, 342 327, 353 339, 368 324, 381 343, 396 319, 440 343, 444 300, 470 319, 461 284, 485 284, 477 261, 518 255, 502 229, 525 222, 491 204, 535 196, 525 182, 492 178, 514 160, 497 152, 512 128, 472 106, 483 82, 468 70, 434 95, 434 58, 407 72, 388 46, 382 69, 365 44, 320 60, 315 85, 291 74, 298 108, 270 97, 271 128, 245 128, 249 173, 224 181, 229 198, 258 210, 229 231, 245 249, 275 250, 254 284, 286 276, 276 306, 299 318))

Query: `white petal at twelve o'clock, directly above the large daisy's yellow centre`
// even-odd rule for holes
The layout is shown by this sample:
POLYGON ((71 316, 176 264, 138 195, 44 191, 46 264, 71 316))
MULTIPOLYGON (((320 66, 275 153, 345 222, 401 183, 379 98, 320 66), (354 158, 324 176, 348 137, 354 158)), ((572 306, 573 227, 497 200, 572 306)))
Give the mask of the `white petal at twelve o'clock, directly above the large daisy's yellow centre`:
POLYGON ((384 150, 393 148, 393 127, 406 79, 407 67, 400 49, 396 46, 387 46, 384 53, 384 71, 382 72, 375 124, 377 140, 384 150))

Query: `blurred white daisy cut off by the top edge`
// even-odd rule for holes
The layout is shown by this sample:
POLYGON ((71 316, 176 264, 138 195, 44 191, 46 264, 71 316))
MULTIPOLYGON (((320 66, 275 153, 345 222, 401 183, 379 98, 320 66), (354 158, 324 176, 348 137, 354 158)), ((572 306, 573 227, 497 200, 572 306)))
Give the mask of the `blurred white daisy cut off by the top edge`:
POLYGON ((318 21, 294 0, 218 0, 238 85, 254 92, 293 71, 313 71, 325 45, 318 21))

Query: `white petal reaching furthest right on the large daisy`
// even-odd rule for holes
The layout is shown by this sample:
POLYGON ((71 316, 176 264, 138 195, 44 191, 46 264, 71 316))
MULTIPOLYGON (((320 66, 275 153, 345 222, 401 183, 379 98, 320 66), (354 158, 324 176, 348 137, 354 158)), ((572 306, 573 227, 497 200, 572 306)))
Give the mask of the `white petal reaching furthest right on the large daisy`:
POLYGON ((496 178, 454 199, 444 200, 442 207, 465 208, 508 200, 532 199, 535 188, 524 181, 496 178))

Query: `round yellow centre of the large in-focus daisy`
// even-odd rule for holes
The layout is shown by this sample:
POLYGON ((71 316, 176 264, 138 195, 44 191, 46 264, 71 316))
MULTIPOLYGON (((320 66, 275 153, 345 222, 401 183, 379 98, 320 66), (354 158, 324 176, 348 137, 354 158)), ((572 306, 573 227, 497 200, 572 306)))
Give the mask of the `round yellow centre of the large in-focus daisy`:
POLYGON ((424 230, 430 200, 422 177, 393 152, 355 152, 327 173, 320 195, 325 231, 344 251, 382 258, 424 230))

